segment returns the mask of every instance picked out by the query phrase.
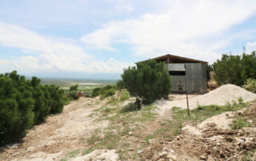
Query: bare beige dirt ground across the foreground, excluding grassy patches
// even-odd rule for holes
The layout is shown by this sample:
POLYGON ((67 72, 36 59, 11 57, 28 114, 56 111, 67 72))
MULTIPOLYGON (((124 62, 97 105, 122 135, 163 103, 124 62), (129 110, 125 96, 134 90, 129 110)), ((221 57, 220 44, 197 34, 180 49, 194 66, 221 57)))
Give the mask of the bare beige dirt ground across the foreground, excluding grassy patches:
MULTIPOLYGON (((216 89, 217 92, 213 91, 214 94, 208 93, 204 97, 189 95, 189 98, 190 100, 207 98, 207 101, 214 102, 218 100, 218 95, 223 94, 222 91, 226 90, 225 88, 221 89, 216 89)), ((234 90, 238 91, 238 88, 234 88, 234 90)), ((234 92, 234 90, 231 92, 234 92)), ((242 95, 245 97, 244 100, 254 99, 254 96, 256 96, 244 91, 240 92, 240 95, 242 93, 244 93, 242 95)), ((230 97, 224 97, 230 99, 237 97, 237 95, 234 96, 232 94, 230 97)), ((160 115, 155 116, 154 120, 148 122, 130 124, 135 129, 138 126, 139 128, 133 132, 126 132, 127 134, 122 135, 121 139, 126 142, 125 148, 130 155, 139 155, 140 158, 133 160, 237 160, 247 154, 246 152, 250 151, 250 149, 256 149, 255 128, 231 130, 229 126, 234 121, 233 118, 235 116, 243 116, 246 120, 253 120, 252 124, 256 127, 256 120, 254 119, 256 116, 256 102, 250 104, 250 107, 245 112, 225 112, 221 115, 210 117, 200 124, 188 124, 182 128, 182 132, 178 136, 171 135, 172 137, 169 138, 150 139, 150 143, 146 143, 147 147, 142 147, 145 144, 146 136, 152 135, 158 129, 161 130, 162 121, 171 120, 172 113, 170 109, 173 106, 170 106, 170 104, 175 103, 178 104, 178 107, 181 107, 182 102, 185 100, 186 95, 178 94, 170 95, 170 100, 158 100, 156 103, 158 110, 154 110, 160 115), (138 153, 138 150, 142 152, 138 153)), ((104 111, 98 112, 103 112, 102 115, 92 115, 95 114, 95 109, 102 108, 107 101, 109 100, 81 98, 78 101, 71 102, 64 107, 61 114, 49 116, 46 123, 30 129, 22 143, 15 143, 9 147, 2 148, 0 160, 61 160, 65 159, 67 154, 82 154, 81 150, 90 146, 86 139, 94 135, 95 130, 109 128, 110 123, 122 120, 119 117, 115 122, 104 119, 98 120, 104 116, 104 111)), ((124 101, 122 106, 129 102, 128 100, 124 101)), ((196 103, 194 102, 194 104, 196 103)), ((122 106, 118 106, 118 108, 122 106)), ((112 108, 117 108, 117 105, 112 108)), ((126 113, 126 116, 129 113, 126 113)), ((130 119, 132 118, 130 117, 130 119)), ((136 119, 136 117, 133 119, 136 119)), ((130 123, 130 121, 126 120, 126 123, 130 123)), ((127 126, 123 122, 118 124, 122 128, 127 126)), ((128 128, 133 128, 132 126, 128 128)), ((86 160, 86 158, 91 160, 101 160, 103 158, 106 160, 118 160, 120 155, 115 150, 117 149, 96 150, 86 155, 76 155, 71 160, 86 160)), ((256 160, 256 156, 254 158, 256 160)))

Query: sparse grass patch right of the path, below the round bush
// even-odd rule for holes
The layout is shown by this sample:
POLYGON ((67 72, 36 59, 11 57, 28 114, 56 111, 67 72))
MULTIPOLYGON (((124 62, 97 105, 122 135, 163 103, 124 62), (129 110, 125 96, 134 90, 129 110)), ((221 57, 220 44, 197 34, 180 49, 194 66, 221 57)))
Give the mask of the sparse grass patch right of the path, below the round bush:
POLYGON ((154 104, 146 105, 139 111, 134 110, 133 106, 134 104, 128 104, 123 108, 117 106, 115 108, 107 108, 105 106, 95 109, 94 115, 101 115, 98 120, 109 120, 110 124, 106 129, 96 129, 94 135, 86 139, 88 146, 86 146, 83 155, 96 149, 117 149, 122 159, 127 159, 128 157, 124 157, 122 153, 127 155, 129 152, 128 136, 130 132, 136 132, 140 128, 139 126, 134 126, 134 124, 152 121, 157 115, 154 112, 154 109, 157 108, 154 104))

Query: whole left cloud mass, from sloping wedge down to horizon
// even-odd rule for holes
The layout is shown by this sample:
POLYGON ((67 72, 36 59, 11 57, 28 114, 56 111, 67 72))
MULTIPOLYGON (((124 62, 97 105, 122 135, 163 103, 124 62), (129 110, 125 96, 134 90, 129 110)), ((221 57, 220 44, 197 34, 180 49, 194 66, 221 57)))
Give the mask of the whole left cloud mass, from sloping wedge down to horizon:
POLYGON ((21 49, 24 53, 23 57, 0 61, 1 73, 12 70, 22 73, 121 73, 122 67, 127 65, 114 60, 94 61, 90 54, 70 41, 54 40, 29 29, 4 23, 0 23, 0 44, 21 49))

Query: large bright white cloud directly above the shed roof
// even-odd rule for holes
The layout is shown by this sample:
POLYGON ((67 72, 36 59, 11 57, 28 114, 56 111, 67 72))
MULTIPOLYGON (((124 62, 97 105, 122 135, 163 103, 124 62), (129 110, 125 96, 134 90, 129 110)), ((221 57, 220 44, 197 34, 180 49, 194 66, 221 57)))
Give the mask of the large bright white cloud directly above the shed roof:
POLYGON ((87 45, 114 50, 128 44, 136 55, 163 53, 214 61, 214 51, 230 43, 222 34, 256 11, 253 0, 165 1, 164 14, 145 14, 135 20, 109 22, 81 37, 87 45), (215 41, 214 41, 215 40, 215 41))

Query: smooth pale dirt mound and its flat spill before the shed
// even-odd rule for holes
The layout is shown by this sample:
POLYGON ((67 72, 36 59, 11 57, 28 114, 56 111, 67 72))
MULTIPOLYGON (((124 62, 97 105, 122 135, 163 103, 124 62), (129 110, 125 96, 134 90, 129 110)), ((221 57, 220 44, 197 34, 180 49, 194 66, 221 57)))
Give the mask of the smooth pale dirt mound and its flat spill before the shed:
MULTIPOLYGON (((225 105, 232 100, 237 101, 238 97, 242 97, 244 102, 256 99, 256 94, 246 91, 246 89, 238 87, 234 84, 225 84, 221 87, 208 92, 201 96, 195 96, 189 99, 190 109, 197 108, 198 105, 225 105)), ((186 99, 183 100, 158 100, 156 104, 159 107, 160 115, 164 114, 166 110, 173 107, 187 108, 186 99)))

